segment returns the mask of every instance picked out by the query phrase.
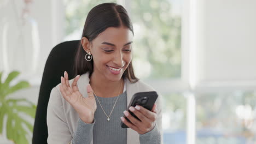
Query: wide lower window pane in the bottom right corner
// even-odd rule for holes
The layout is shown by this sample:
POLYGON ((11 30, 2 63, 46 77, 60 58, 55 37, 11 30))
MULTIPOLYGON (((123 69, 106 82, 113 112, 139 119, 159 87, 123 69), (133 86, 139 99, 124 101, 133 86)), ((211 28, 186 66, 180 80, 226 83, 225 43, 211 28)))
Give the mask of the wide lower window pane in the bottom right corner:
POLYGON ((254 143, 256 92, 196 94, 196 143, 254 143))

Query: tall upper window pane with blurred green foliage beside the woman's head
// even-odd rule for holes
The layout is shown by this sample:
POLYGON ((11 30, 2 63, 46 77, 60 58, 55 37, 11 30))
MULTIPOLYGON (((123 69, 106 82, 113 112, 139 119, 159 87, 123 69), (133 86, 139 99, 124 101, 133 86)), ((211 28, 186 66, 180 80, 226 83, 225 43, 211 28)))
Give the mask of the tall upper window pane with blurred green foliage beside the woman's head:
POLYGON ((135 73, 142 79, 181 77, 181 3, 175 1, 131 1, 135 29, 135 73), (176 11, 174 11, 176 10, 176 11))

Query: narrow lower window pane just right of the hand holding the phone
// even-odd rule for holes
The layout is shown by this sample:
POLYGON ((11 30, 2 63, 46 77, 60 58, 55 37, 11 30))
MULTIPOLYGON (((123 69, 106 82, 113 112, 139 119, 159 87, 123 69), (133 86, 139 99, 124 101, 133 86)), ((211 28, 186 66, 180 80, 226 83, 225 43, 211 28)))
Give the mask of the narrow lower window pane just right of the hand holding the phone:
POLYGON ((187 99, 183 93, 162 94, 164 143, 186 143, 187 99))

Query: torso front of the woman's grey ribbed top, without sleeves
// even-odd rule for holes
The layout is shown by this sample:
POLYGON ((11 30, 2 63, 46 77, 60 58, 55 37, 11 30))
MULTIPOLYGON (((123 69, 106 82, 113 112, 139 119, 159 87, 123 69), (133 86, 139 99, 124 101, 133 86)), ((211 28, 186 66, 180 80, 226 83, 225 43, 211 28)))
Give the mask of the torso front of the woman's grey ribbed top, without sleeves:
MULTIPOLYGON (((115 100, 117 97, 113 98, 102 98, 97 97, 100 100, 101 105, 107 115, 109 116, 115 100)), ((110 121, 107 121, 107 116, 101 109, 100 104, 97 101, 97 110, 95 112, 95 124, 94 124, 94 143, 126 143, 127 140, 127 129, 121 128, 121 119, 123 116, 123 111, 126 110, 126 92, 119 95, 117 104, 114 107, 112 115, 110 116, 110 121)))

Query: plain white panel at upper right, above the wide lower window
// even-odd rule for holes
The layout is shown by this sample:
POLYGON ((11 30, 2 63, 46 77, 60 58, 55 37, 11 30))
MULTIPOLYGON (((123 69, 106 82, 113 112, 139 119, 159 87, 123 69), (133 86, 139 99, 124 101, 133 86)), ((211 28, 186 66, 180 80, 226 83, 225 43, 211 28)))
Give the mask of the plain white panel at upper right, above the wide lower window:
POLYGON ((256 86, 256 1, 196 1, 196 89, 256 86))

